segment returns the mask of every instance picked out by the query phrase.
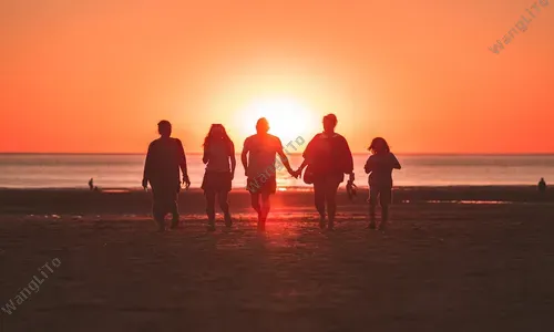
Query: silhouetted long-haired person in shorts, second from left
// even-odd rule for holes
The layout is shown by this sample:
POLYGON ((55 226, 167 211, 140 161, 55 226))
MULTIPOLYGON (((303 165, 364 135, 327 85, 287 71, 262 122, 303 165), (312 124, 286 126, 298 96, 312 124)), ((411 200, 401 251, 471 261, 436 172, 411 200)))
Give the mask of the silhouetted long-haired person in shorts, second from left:
POLYGON ((225 226, 230 227, 233 220, 229 214, 227 195, 235 177, 237 162, 235 159, 235 145, 223 125, 213 124, 209 128, 209 133, 204 139, 204 157, 202 162, 206 164, 202 189, 204 189, 204 196, 206 196, 208 230, 215 230, 216 196, 225 216, 225 226))

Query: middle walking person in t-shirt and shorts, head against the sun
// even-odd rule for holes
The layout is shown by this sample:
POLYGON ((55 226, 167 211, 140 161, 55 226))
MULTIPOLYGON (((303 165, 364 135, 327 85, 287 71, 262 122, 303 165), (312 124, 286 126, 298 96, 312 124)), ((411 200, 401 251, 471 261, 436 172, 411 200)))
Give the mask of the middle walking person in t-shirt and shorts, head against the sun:
MULTIPOLYGON (((276 154, 279 155, 283 165, 288 173, 297 176, 290 168, 288 158, 283 152, 280 139, 268 134, 269 123, 261 117, 256 123, 256 134, 244 142, 240 160, 246 175, 246 188, 250 193, 252 207, 258 212, 258 229, 264 230, 267 216, 269 215, 269 196, 277 189, 276 154)), ((279 165, 280 166, 280 165, 279 165)))

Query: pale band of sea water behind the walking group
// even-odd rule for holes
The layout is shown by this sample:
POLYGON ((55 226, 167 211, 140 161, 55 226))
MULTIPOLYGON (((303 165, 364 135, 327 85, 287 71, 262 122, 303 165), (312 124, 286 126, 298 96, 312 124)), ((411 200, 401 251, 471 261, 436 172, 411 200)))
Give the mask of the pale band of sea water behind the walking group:
MULTIPOLYGON (((363 173, 367 154, 355 155, 356 184, 367 186, 363 173)), ((396 186, 535 185, 541 177, 554 181, 554 155, 398 155, 401 170, 394 170, 396 186)), ((293 168, 301 156, 289 157, 293 168)), ((201 154, 188 154, 192 188, 204 175, 201 154)), ((100 188, 140 188, 143 155, 93 154, 0 154, 0 188, 88 188, 94 178, 100 188)), ((286 172, 278 174, 280 188, 307 187, 286 172)), ((244 188, 246 179, 237 156, 233 186, 244 188)))

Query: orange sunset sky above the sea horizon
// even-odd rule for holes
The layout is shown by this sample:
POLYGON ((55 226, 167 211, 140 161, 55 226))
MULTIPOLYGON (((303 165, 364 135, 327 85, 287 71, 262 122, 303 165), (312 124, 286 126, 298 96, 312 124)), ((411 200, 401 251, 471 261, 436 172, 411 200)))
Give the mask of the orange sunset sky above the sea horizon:
POLYGON ((554 4, 489 50, 533 3, 0 1, 0 152, 144 152, 162 118, 242 146, 254 101, 291 100, 358 152, 554 153, 554 4))

